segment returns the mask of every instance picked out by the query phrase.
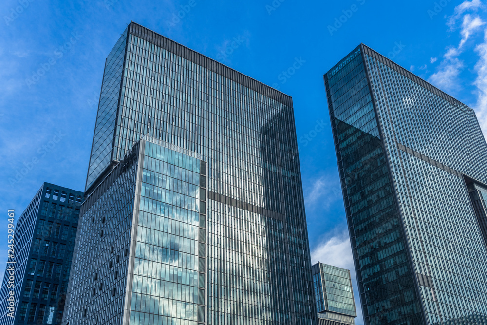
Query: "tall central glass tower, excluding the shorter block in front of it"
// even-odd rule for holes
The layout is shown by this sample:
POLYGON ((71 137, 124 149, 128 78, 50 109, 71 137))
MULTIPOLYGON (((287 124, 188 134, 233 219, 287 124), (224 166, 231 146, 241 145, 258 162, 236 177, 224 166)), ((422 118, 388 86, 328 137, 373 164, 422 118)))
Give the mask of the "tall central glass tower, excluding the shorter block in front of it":
POLYGON ((205 323, 316 324, 292 98, 131 22, 107 58, 87 192, 143 135, 207 163, 205 323))

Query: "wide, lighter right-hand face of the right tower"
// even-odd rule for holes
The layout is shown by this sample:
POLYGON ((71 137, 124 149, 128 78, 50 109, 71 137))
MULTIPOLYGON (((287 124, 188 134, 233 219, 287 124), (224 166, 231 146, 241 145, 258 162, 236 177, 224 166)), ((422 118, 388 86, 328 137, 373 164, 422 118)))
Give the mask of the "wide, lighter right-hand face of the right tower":
POLYGON ((487 324, 487 250, 463 177, 486 182, 487 145, 472 109, 366 55, 429 324, 487 324), (475 321, 471 321, 471 320, 475 321))

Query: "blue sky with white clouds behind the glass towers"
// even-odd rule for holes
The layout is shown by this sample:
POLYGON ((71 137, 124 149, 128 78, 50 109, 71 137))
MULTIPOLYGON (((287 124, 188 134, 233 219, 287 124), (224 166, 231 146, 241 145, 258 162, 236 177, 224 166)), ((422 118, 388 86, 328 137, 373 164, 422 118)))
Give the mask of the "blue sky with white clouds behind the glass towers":
MULTIPOLYGON (((480 0, 4 0, 1 209, 19 216, 43 181, 84 188, 105 58, 133 20, 293 96, 313 262, 354 273, 322 75, 363 42, 473 107, 487 130, 486 8, 480 0)), ((6 230, 2 218, 0 274, 6 230)))

